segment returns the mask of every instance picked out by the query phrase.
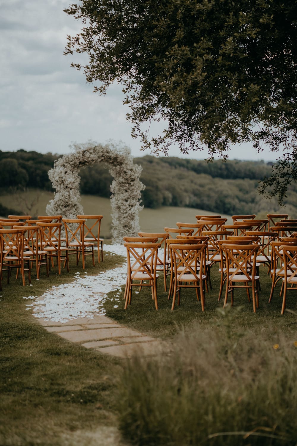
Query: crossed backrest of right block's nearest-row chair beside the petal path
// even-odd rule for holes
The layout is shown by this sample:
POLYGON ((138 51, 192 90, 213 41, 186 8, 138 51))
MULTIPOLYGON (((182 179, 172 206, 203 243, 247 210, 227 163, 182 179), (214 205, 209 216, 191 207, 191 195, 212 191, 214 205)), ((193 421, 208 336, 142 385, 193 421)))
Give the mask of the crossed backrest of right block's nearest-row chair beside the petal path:
POLYGON ((127 250, 127 274, 133 280, 137 274, 148 274, 150 279, 155 279, 157 270, 157 257, 160 243, 133 243, 126 242, 127 250))

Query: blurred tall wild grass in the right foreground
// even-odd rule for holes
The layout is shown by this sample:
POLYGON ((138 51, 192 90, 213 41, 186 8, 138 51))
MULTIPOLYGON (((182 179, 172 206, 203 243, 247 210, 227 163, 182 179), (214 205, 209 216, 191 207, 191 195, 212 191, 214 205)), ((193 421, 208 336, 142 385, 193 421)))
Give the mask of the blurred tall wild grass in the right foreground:
POLYGON ((181 330, 166 357, 134 357, 119 384, 124 438, 139 446, 295 445, 297 342, 221 326, 181 330))

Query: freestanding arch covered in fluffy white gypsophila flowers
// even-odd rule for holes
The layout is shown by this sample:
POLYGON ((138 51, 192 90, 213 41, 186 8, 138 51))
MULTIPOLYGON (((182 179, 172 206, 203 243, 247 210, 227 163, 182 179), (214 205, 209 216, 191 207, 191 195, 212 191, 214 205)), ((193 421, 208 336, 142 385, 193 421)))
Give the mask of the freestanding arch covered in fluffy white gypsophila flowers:
POLYGON ((79 169, 103 161, 114 178, 110 186, 112 243, 122 243, 125 235, 137 235, 140 230, 139 211, 143 207, 140 206, 141 191, 145 186, 139 180, 142 167, 133 163, 130 149, 92 142, 74 144, 73 149, 73 153, 57 159, 53 169, 49 170, 49 179, 56 192, 46 206, 47 214, 71 219, 83 214, 79 169))

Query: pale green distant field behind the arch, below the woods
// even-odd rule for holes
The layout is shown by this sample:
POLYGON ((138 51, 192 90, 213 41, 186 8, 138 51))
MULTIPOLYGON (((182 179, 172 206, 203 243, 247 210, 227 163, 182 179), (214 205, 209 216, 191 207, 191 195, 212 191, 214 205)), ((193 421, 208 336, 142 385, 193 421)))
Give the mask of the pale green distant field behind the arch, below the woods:
MULTIPOLYGON (((20 209, 26 214, 43 215, 53 193, 39 190, 29 190, 18 194, 7 194, 0 197, 0 203, 4 206, 20 209)), ((108 198, 95 197, 94 195, 81 195, 81 205, 85 214, 103 215, 101 234, 110 236, 111 217, 110 200, 108 198)), ((193 209, 189 207, 163 206, 158 209, 143 209, 139 214, 142 231, 160 232, 164 227, 175 227, 176 222, 195 223, 197 214, 214 214, 213 212, 193 209)), ((3 215, 5 217, 5 215, 3 215)), ((223 215, 222 215, 223 216, 223 215)), ((226 218, 230 219, 229 215, 226 218)))

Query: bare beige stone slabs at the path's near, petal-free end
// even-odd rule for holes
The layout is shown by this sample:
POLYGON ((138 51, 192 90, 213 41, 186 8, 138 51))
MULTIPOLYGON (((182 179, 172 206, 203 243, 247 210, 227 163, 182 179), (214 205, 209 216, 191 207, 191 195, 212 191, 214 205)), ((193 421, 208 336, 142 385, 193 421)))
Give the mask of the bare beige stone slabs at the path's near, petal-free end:
POLYGON ((77 318, 69 322, 39 319, 39 322, 46 330, 62 338, 120 358, 134 354, 159 355, 166 348, 166 343, 160 339, 126 328, 106 316, 77 318))

